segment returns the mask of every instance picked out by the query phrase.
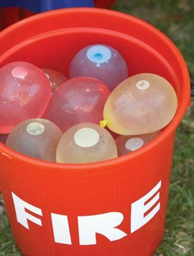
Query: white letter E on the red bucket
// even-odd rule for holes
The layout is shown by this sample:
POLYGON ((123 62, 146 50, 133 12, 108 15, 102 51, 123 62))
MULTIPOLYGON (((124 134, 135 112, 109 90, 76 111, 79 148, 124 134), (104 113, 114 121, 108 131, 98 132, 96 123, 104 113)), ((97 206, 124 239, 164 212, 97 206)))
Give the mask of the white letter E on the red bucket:
POLYGON ((151 212, 144 217, 144 214, 159 200, 159 192, 156 194, 155 197, 151 199, 149 203, 145 204, 145 202, 149 200, 159 190, 160 187, 161 181, 159 181, 157 185, 144 197, 141 197, 138 201, 132 203, 132 210, 130 216, 131 233, 140 229, 140 227, 144 226, 147 222, 149 222, 160 209, 160 203, 158 203, 156 207, 153 208, 153 210, 151 210, 151 212))

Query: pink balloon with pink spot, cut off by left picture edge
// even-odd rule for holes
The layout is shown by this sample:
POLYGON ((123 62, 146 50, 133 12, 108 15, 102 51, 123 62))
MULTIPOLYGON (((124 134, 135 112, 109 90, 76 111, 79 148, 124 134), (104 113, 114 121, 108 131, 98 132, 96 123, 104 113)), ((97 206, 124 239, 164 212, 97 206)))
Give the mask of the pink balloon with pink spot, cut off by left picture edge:
POLYGON ((0 133, 29 118, 38 118, 50 99, 50 84, 35 65, 13 62, 0 69, 0 133))

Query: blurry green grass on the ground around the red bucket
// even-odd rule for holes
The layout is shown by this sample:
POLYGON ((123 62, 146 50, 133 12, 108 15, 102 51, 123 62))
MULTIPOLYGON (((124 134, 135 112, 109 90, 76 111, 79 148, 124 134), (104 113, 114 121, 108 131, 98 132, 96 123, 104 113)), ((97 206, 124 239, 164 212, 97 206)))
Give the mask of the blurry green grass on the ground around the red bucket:
MULTIPOLYGON (((113 8, 144 19, 169 36, 184 55, 194 81, 193 0, 118 0, 113 8)), ((158 256, 194 255, 193 105, 192 100, 192 108, 187 110, 176 133, 166 231, 158 256)), ((20 253, 0 199, 0 256, 13 255, 20 253)))

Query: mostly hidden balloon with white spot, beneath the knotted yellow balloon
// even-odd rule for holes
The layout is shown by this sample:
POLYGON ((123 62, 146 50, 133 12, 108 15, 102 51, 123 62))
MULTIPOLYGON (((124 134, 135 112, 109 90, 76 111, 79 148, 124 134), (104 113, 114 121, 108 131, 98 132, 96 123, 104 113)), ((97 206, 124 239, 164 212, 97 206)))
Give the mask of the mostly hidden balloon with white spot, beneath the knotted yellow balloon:
POLYGON ((115 142, 117 144, 118 156, 133 152, 144 147, 147 143, 155 139, 161 131, 151 132, 141 135, 119 135, 115 142))

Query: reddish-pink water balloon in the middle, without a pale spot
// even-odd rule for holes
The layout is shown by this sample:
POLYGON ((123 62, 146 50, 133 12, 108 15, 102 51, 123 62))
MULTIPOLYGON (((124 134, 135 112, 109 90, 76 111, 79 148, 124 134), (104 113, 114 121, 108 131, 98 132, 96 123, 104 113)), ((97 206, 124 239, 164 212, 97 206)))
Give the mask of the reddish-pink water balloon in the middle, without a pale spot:
POLYGON ((79 123, 99 124, 110 90, 100 80, 76 77, 66 81, 53 93, 44 118, 65 132, 79 123))

